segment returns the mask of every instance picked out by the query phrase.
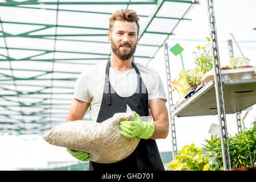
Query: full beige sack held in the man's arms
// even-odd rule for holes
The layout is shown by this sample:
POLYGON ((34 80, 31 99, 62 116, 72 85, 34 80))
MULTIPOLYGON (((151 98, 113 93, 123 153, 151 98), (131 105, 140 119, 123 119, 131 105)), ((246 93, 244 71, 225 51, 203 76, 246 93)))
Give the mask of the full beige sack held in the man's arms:
POLYGON ((93 162, 115 163, 127 158, 140 140, 122 137, 119 122, 123 120, 134 121, 134 114, 116 113, 101 123, 84 120, 62 123, 47 131, 43 138, 55 146, 88 152, 93 162))

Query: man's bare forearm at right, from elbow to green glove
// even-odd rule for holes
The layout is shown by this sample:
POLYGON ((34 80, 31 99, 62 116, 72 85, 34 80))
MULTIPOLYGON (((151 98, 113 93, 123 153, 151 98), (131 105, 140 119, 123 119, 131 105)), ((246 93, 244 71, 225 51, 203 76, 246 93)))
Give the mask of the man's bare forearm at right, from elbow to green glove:
POLYGON ((150 137, 150 139, 164 139, 167 137, 169 133, 169 121, 168 122, 163 122, 160 121, 154 121, 155 125, 155 131, 153 135, 150 137))

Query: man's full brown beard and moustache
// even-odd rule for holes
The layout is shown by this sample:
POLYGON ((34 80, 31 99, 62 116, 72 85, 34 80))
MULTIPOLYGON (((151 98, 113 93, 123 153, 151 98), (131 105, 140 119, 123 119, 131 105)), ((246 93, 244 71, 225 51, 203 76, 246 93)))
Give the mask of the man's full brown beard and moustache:
POLYGON ((136 46, 137 46, 137 42, 133 45, 131 45, 130 43, 123 43, 123 44, 115 44, 112 40, 111 40, 111 48, 112 51, 114 52, 114 54, 121 60, 128 60, 131 58, 131 56, 133 56, 135 50, 136 50, 136 46), (129 48, 127 49, 123 49, 120 50, 121 46, 129 46, 129 48))

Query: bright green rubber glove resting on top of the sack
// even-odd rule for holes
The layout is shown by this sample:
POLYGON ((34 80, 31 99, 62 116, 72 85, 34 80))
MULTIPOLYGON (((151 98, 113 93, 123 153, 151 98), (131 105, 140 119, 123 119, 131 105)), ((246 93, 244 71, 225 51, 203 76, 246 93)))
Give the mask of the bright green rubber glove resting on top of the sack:
POLYGON ((125 138, 139 137, 142 139, 150 138, 154 131, 155 125, 153 122, 143 122, 135 111, 135 121, 121 121, 119 122, 119 128, 121 129, 121 135, 125 138))

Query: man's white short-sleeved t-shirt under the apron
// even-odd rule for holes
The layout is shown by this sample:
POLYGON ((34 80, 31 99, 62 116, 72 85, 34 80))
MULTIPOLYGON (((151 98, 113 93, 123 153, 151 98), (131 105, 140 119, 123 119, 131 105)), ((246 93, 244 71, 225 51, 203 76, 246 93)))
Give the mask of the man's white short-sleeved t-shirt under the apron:
MULTIPOLYGON (((105 71, 108 61, 93 65, 90 70, 82 72, 77 78, 74 98, 90 103, 92 121, 96 121, 100 112, 101 100, 104 92, 105 71)), ((162 98, 167 101, 163 82, 154 69, 137 64, 142 80, 146 85, 148 100, 162 98)), ((121 97, 133 95, 137 89, 137 74, 132 68, 125 72, 117 71, 110 67, 109 81, 115 92, 121 97)))

